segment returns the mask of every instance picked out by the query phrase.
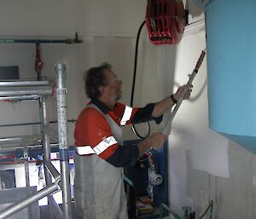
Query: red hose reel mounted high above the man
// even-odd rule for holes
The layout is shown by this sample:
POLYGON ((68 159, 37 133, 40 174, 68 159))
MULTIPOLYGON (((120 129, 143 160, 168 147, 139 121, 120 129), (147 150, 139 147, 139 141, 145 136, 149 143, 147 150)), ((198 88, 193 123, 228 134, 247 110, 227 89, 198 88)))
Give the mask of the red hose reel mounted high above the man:
POLYGON ((181 0, 148 0, 146 25, 151 43, 177 44, 186 25, 181 0))

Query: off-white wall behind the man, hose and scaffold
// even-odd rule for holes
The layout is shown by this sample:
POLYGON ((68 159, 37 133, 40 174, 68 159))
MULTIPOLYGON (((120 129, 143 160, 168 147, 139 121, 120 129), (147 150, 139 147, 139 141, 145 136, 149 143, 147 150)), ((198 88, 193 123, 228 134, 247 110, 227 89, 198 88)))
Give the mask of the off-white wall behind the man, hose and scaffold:
MULTIPOLYGON (((43 75, 55 77, 54 65, 67 64, 68 118, 77 118, 88 99, 84 95, 83 74, 102 61, 112 63, 123 79, 122 101, 130 103, 133 59, 138 26, 145 16, 146 0, 141 1, 1 1, 1 36, 70 37, 78 31, 84 43, 41 44, 43 75)), ((189 19, 203 18, 192 1, 189 19)), ((156 47, 148 43, 143 28, 138 51, 135 105, 158 101, 185 84, 188 73, 205 48, 204 30, 186 32, 177 46, 156 47)), ((33 44, 0 43, 0 66, 18 65, 20 78, 36 78, 33 44)), ((170 203, 182 214, 190 205, 197 215, 213 199, 218 219, 253 219, 256 216, 254 155, 207 128, 207 62, 195 78, 191 101, 183 102, 169 136, 170 203)), ((55 100, 49 99, 49 119, 55 120, 55 100)), ((38 122, 38 104, 1 103, 1 124, 38 122)), ((166 119, 166 118, 165 118, 166 119)), ((166 121, 166 120, 165 120, 166 121)), ((69 144, 73 145, 73 124, 69 124, 69 144)), ((153 125, 153 131, 161 125, 153 125)), ((19 130, 0 128, 0 135, 38 133, 38 127, 19 130)), ((125 130, 125 138, 135 136, 125 130)))

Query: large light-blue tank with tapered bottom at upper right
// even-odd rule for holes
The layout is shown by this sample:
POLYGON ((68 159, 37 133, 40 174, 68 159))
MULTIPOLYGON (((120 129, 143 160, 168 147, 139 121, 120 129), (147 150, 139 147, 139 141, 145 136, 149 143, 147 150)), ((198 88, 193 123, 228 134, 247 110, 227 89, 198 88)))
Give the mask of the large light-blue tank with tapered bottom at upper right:
POLYGON ((206 10, 209 126, 250 148, 256 147, 255 12, 255 0, 214 0, 206 10))

